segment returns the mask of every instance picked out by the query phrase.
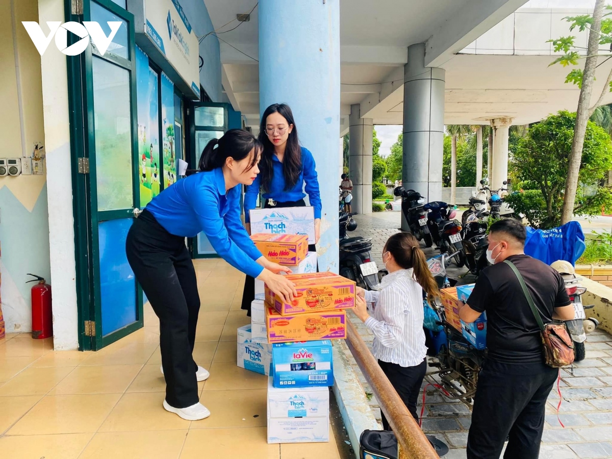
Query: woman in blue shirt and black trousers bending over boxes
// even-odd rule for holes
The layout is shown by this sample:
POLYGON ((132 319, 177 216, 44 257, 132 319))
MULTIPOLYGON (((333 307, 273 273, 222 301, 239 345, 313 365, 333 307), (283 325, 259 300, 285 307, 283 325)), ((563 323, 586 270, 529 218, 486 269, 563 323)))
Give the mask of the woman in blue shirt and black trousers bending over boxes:
POLYGON ((185 237, 204 231, 218 255, 236 269, 263 280, 285 299, 296 294, 293 283, 278 274, 291 271, 267 261, 240 220, 242 185, 252 184, 259 173, 261 149, 253 135, 239 129, 211 140, 200 159, 202 172, 155 196, 127 236, 127 259, 159 317, 163 408, 183 419, 211 414, 198 397, 198 381, 209 373, 192 357, 200 295, 185 237))

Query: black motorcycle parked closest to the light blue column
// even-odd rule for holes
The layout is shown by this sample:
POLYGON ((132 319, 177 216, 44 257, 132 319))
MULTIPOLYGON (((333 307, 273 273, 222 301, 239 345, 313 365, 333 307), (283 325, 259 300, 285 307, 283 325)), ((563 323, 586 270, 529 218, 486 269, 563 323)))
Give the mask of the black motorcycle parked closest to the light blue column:
POLYGON ((378 290, 381 275, 376 261, 371 259, 372 240, 346 236, 346 231, 357 229, 353 215, 357 215, 357 212, 340 212, 340 275, 353 280, 361 288, 378 290))

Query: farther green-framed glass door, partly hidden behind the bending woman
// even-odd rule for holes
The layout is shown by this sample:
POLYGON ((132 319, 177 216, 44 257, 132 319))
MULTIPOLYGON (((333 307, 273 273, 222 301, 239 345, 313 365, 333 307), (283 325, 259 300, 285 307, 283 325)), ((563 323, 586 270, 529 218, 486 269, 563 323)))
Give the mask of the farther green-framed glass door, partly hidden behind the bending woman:
MULTIPOLYGON (((193 102, 188 111, 190 118, 192 169, 198 168, 202 151, 209 141, 221 138, 228 130, 228 111, 223 103, 193 102)), ((200 233, 193 238, 193 258, 215 258, 217 252, 212 248, 206 234, 200 233)))

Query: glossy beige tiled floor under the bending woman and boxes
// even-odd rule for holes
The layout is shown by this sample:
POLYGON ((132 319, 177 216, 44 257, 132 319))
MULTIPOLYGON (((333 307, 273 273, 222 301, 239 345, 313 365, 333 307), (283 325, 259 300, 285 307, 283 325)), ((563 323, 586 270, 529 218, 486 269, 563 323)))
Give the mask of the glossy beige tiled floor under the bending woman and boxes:
POLYGON ((266 442, 265 376, 236 367, 244 276, 217 260, 195 261, 202 299, 196 362, 207 419, 190 422, 162 408, 159 321, 145 307, 144 329, 97 353, 53 351, 48 340, 0 340, 0 457, 339 459, 329 443, 266 442))

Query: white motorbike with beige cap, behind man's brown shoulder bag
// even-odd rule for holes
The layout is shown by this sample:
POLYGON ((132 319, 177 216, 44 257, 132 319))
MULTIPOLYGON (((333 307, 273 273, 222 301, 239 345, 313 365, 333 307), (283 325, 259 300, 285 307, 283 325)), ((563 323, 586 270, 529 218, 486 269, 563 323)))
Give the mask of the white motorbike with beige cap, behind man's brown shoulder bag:
POLYGON ((574 308, 574 318, 573 320, 565 321, 565 326, 573 341, 574 361, 580 362, 580 360, 584 360, 586 357, 586 348, 584 346, 586 334, 591 333, 599 325, 597 319, 587 319, 584 310, 591 309, 595 307, 595 305, 584 306, 582 304, 582 296, 586 292, 586 288, 580 285, 571 263, 558 260, 551 264, 551 267, 561 274, 563 282, 565 283, 567 296, 570 297, 570 301, 574 308))

